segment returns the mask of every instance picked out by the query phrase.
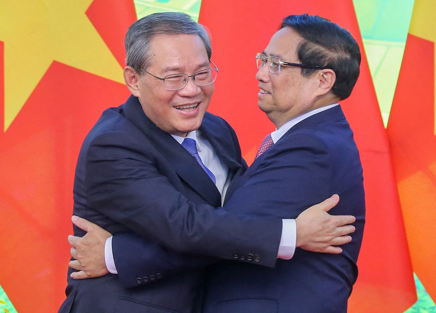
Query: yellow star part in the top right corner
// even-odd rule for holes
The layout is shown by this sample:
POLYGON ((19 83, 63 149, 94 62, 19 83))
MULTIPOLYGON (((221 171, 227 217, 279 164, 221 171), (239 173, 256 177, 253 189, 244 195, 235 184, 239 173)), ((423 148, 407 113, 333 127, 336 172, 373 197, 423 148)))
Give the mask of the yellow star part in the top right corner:
MULTIPOLYGON (((436 43, 436 1, 434 0, 415 0, 413 5, 412 19, 410 20, 409 34, 421 37, 436 43)), ((436 90, 436 53, 435 60, 435 90, 436 90)), ((424 66, 424 65, 423 65, 424 66)), ((435 92, 435 128, 436 135, 436 92, 435 92)))

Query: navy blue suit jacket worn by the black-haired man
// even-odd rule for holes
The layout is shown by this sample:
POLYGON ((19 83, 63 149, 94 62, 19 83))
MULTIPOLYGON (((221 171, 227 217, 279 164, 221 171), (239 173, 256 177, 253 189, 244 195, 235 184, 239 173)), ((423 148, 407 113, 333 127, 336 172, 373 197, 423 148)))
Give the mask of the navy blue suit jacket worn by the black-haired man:
MULTIPOLYGON (((356 217, 353 240, 342 246, 342 254, 297 248, 291 260, 278 260, 273 269, 242 262, 213 265, 208 273, 204 312, 346 312, 358 274, 365 204, 359 153, 340 106, 298 123, 255 160, 244 175, 232 181, 224 209, 237 214, 296 218, 305 208, 335 193, 341 200, 329 213, 356 217)), ((121 235, 119 240, 141 250, 133 238, 121 235)), ((114 252, 122 255, 120 262, 128 262, 122 250, 114 252)), ((120 276, 138 273, 141 267, 145 271, 154 266, 153 262, 170 258, 162 252, 155 253, 155 259, 147 259, 146 245, 142 250, 135 268, 122 269, 120 276)), ((244 261, 247 257, 243 255, 244 261)), ((188 265, 189 261, 181 261, 175 268, 183 272, 183 263, 188 265)))

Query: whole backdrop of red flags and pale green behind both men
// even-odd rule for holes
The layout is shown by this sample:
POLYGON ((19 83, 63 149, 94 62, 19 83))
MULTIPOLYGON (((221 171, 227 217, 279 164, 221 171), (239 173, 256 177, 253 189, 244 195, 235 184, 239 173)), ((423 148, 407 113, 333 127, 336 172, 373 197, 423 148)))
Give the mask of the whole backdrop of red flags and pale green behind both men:
POLYGON ((220 68, 210 111, 232 124, 249 163, 274 130, 257 109, 254 55, 281 18, 318 14, 351 31, 364 54, 341 105, 367 225, 349 312, 436 312, 436 4, 426 0, 0 0, 0 312, 55 312, 65 298, 78 150, 129 94, 127 28, 161 11, 210 29, 220 68))

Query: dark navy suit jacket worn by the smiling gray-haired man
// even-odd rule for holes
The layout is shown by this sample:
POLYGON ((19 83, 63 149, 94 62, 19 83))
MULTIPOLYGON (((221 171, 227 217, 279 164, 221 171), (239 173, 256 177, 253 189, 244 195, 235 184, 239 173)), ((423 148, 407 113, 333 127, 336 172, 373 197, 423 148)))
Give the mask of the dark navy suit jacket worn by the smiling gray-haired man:
MULTIPOLYGON (((235 132, 227 122, 206 113, 199 130, 220 152, 232 176, 245 170, 235 132)), ((191 154, 146 117, 133 96, 119 108, 103 112, 85 138, 76 167, 74 201, 73 214, 112 234, 148 238, 148 258, 154 251, 176 255, 169 250, 173 249, 222 259, 245 252, 261 255, 262 265, 276 262, 281 220, 239 217, 216 209, 221 196, 215 184, 191 154), (263 229, 270 231, 262 233, 263 229)), ((85 234, 76 227, 74 233, 85 234)), ((115 239, 114 247, 117 243, 115 239)), ((135 251, 129 253, 134 264, 135 251)), ((194 312, 204 286, 203 269, 196 262, 203 265, 208 260, 180 257, 184 272, 179 275, 171 277, 179 261, 167 258, 149 266, 143 275, 126 279, 124 285, 122 276, 112 274, 85 280, 68 275, 67 299, 59 312, 194 312), (138 288, 126 290, 129 283, 138 288)))

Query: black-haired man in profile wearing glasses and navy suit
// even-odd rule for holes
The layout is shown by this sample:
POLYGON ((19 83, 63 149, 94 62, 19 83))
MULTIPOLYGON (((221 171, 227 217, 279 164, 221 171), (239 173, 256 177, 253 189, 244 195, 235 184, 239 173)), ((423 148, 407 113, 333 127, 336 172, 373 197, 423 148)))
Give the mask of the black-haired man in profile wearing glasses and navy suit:
POLYGON ((365 204, 358 149, 337 102, 351 94, 358 78, 358 44, 327 19, 290 15, 256 59, 259 108, 276 131, 264 140, 267 150, 232 183, 230 201, 253 204, 242 214, 292 218, 302 203, 316 203, 335 191, 341 201, 331 211, 354 215, 356 231, 337 255, 297 248, 291 260, 277 260, 274 269, 215 266, 204 313, 347 312, 358 275, 365 204), (259 202, 273 205, 266 210, 255 205, 259 202))

